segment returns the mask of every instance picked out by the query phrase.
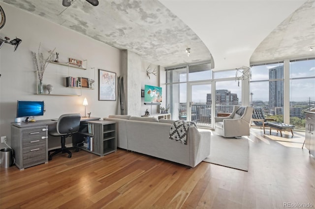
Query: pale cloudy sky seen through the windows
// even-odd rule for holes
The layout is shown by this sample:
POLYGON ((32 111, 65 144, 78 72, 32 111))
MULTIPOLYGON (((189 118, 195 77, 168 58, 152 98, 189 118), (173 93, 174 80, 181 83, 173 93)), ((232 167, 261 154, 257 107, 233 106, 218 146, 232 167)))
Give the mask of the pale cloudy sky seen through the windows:
MULTIPOLYGON (((257 80, 268 80, 269 79, 269 69, 277 67, 280 64, 270 64, 253 66, 251 68, 252 78, 251 81, 257 80)), ((230 72, 216 72, 215 78, 235 78, 235 71, 230 72)), ((290 62, 290 78, 300 78, 300 79, 290 79, 290 101, 293 102, 306 102, 315 101, 315 59, 306 61, 295 61, 290 62), (313 77, 313 78, 305 78, 313 77), (301 79, 303 78, 303 79, 301 79)), ((209 71, 203 71, 199 73, 189 74, 189 80, 202 80, 211 79, 209 76, 209 71)), ((181 81, 186 80, 186 74, 181 74, 181 81), (183 76, 182 76, 183 75, 183 76)), ((238 82, 235 80, 229 81, 218 81, 216 82, 216 89, 226 89, 231 93, 237 94, 239 101, 242 100, 242 87, 238 86, 238 82)), ((192 101, 193 102, 206 102, 206 95, 211 93, 211 84, 194 85, 192 86, 192 101)), ((269 101, 269 81, 251 82, 250 92, 253 93, 253 101, 269 101)), ((184 103, 187 101, 186 96, 186 84, 181 84, 180 92, 180 102, 184 103)))

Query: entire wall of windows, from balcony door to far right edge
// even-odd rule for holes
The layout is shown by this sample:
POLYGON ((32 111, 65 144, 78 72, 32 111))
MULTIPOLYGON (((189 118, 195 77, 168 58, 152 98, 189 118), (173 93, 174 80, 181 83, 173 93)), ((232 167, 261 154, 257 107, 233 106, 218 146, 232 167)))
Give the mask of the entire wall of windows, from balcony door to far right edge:
POLYGON ((252 65, 251 78, 240 80, 239 85, 235 70, 212 72, 210 63, 165 70, 167 104, 172 104, 174 120, 187 118, 187 105, 193 102, 204 106, 201 107, 202 111, 190 109, 190 114, 197 114, 194 117, 196 121, 200 121, 200 118, 207 119, 212 127, 211 120, 214 116, 230 112, 235 104, 248 105, 248 101, 244 102, 244 97, 249 96, 249 104, 262 107, 268 118, 276 118, 278 122, 304 130, 304 112, 315 108, 315 58, 252 65), (207 89, 209 93, 199 99, 197 95, 201 90, 197 90, 198 83, 199 86, 210 86, 207 89), (245 88, 249 91, 245 91, 245 88), (190 101, 191 99, 196 101, 190 101), (207 116, 199 117, 199 113, 207 116))

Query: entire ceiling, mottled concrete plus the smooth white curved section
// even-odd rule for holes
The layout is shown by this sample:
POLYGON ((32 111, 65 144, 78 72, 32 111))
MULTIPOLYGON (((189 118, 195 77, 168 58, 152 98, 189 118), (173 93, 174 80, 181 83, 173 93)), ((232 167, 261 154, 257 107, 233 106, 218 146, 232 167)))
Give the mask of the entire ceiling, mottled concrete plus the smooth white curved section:
POLYGON ((227 70, 314 55, 315 0, 3 1, 164 67, 213 56, 214 70, 227 70))

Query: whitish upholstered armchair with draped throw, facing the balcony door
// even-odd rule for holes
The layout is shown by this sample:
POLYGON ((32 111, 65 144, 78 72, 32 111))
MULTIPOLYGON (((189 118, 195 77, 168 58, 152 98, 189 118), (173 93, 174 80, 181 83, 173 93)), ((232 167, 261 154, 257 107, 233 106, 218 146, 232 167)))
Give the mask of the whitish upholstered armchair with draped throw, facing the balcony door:
POLYGON ((249 136, 253 108, 251 106, 233 107, 228 117, 215 117, 215 130, 224 137, 249 136))

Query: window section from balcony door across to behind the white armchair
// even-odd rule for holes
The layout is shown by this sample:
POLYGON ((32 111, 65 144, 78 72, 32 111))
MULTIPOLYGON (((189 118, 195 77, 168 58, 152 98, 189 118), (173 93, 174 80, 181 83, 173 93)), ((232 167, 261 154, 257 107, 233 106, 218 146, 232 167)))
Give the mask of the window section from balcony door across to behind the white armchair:
POLYGON ((242 104, 242 83, 248 80, 236 81, 236 70, 212 72, 210 67, 204 63, 165 69, 166 103, 173 120, 213 127, 214 116, 231 113, 233 105, 242 104))

